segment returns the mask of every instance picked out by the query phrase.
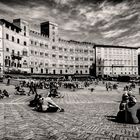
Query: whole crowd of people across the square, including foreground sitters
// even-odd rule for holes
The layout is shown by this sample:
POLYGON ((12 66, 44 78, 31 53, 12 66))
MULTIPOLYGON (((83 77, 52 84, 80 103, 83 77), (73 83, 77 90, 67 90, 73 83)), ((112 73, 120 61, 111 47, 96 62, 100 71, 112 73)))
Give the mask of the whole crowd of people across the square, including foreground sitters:
MULTIPOLYGON (((7 81, 7 85, 10 84, 10 79, 7 81)), ((119 83, 110 81, 86 80, 86 81, 45 81, 45 80, 31 80, 22 81, 15 86, 16 95, 34 95, 34 99, 30 101, 29 106, 33 107, 36 111, 41 112, 64 112, 64 109, 57 105, 53 98, 64 98, 59 92, 60 88, 66 90, 75 91, 80 88, 87 88, 90 85, 104 85, 106 91, 116 90, 119 87, 119 83), (25 88, 29 89, 28 92, 25 88), (38 89, 46 90, 46 96, 38 93, 38 89)), ((134 83, 126 84, 123 88, 122 100, 119 105, 119 112, 117 113, 117 121, 122 123, 139 123, 140 122, 140 106, 137 104, 137 99, 134 96, 132 89, 135 88, 134 83)), ((90 90, 93 92, 95 89, 92 87, 90 90)), ((6 90, 0 90, 0 98, 9 97, 6 90)))

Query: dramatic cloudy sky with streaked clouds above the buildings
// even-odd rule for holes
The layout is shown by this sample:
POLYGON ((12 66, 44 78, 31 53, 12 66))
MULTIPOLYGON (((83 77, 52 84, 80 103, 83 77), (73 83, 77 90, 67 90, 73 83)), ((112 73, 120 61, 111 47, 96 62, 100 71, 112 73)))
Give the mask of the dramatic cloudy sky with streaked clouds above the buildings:
POLYGON ((140 0, 0 0, 0 17, 59 25, 60 37, 140 46, 140 0))

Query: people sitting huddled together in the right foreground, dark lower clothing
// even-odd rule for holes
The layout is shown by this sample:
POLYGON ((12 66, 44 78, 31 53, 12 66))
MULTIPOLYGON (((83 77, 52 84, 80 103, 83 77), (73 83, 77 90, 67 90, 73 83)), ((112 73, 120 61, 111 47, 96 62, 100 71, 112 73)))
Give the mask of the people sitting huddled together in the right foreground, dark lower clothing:
POLYGON ((121 123, 140 122, 140 105, 137 103, 136 97, 132 94, 132 90, 128 88, 122 95, 122 100, 117 113, 117 121, 121 123))

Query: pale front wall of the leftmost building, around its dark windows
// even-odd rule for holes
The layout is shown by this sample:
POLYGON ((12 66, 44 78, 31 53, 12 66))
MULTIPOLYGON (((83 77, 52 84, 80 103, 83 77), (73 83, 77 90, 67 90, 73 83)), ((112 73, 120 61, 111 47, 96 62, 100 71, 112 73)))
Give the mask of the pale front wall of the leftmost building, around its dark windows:
MULTIPOLYGON (((19 69, 21 71, 26 71, 29 72, 29 54, 28 54, 28 37, 23 36, 20 33, 17 33, 15 30, 11 30, 11 27, 9 26, 9 28, 5 27, 5 25, 3 25, 3 50, 4 50, 4 60, 9 57, 10 61, 14 61, 14 63, 16 63, 16 66, 5 66, 5 70, 11 70, 11 69, 19 69), (8 35, 8 39, 6 38, 6 36, 8 35), (12 41, 12 37, 14 37, 14 41, 12 41), (17 39, 19 39, 19 43, 17 43, 17 39), (24 44, 24 42, 26 42, 26 45, 24 44), (14 50, 15 55, 20 54, 20 56, 22 57, 20 60, 20 64, 21 67, 17 68, 17 60, 12 60, 12 51, 14 50), (23 55, 23 51, 27 51, 27 56, 23 55), (25 65, 26 62, 26 65, 25 65)), ((3 61, 4 61, 3 60, 3 61)))

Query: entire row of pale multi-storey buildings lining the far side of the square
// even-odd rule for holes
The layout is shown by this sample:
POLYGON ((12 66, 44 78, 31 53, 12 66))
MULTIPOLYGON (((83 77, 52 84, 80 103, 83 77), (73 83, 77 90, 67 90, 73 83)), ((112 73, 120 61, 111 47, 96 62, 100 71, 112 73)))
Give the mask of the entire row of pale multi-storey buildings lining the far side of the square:
POLYGON ((137 48, 63 40, 59 26, 44 22, 34 27, 22 19, 0 20, 0 73, 138 74, 137 48))

